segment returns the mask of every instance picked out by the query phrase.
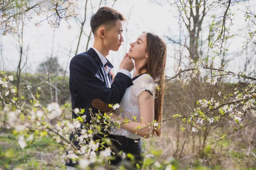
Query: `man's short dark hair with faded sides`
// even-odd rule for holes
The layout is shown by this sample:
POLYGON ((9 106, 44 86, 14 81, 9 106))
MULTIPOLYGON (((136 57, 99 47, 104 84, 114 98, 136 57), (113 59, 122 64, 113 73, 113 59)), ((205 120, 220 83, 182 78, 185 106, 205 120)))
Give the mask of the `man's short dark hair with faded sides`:
POLYGON ((125 17, 112 8, 106 6, 99 8, 90 20, 90 26, 93 34, 96 29, 103 24, 112 28, 115 26, 117 20, 125 21, 125 17))

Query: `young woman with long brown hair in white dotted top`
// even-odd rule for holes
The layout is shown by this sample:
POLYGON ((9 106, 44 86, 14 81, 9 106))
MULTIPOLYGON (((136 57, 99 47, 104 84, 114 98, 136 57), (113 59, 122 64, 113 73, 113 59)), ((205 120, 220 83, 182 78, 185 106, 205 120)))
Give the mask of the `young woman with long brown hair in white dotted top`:
MULTIPOLYGON (((115 110, 112 119, 119 119, 120 128, 111 128, 112 139, 117 150, 131 153, 129 159, 134 167, 141 169, 145 153, 140 138, 150 135, 160 136, 160 128, 154 128, 154 120, 161 121, 163 94, 165 89, 166 43, 157 35, 143 32, 132 42, 128 57, 134 59, 135 72, 133 84, 126 89, 125 95, 115 110), (159 88, 156 88, 158 85, 159 88), (120 117, 121 116, 121 117, 120 117), (125 118, 131 122, 122 124, 125 118), (137 127, 142 127, 140 130, 137 127), (146 127, 146 128, 143 128, 146 127), (137 130, 136 130, 137 129, 137 130), (138 166, 139 165, 139 166, 138 166)), ((155 124, 156 125, 156 124, 155 124)), ((119 161, 118 158, 114 161, 119 161)))

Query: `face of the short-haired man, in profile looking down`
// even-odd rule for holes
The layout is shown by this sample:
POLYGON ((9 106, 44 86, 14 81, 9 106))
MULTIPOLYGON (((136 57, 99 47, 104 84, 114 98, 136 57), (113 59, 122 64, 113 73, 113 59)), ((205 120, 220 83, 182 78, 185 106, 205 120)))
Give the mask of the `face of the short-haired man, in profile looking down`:
POLYGON ((122 21, 117 20, 116 25, 112 26, 109 30, 105 31, 104 46, 108 50, 118 51, 119 47, 122 45, 122 21))

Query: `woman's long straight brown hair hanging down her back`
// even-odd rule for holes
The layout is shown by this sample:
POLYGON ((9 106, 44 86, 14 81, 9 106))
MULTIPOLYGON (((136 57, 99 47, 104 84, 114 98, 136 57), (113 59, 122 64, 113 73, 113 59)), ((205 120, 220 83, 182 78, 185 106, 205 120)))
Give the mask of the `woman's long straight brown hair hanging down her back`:
MULTIPOLYGON (((154 99, 154 120, 157 122, 162 120, 163 113, 163 95, 165 89, 165 68, 166 68, 166 43, 157 35, 143 32, 146 34, 148 60, 138 71, 140 74, 146 70, 153 77, 160 89, 156 90, 154 99)), ((160 136, 160 128, 153 130, 153 135, 160 136)))

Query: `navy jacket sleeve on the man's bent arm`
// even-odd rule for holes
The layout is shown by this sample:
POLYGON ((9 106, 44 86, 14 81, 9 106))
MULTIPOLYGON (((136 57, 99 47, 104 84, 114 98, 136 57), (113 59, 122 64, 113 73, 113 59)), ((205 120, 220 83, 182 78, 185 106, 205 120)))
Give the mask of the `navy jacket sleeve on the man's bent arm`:
POLYGON ((70 61, 70 81, 78 93, 88 102, 101 99, 107 104, 120 103, 126 88, 133 85, 130 77, 117 73, 111 88, 97 74, 93 62, 85 56, 73 57, 70 61))

